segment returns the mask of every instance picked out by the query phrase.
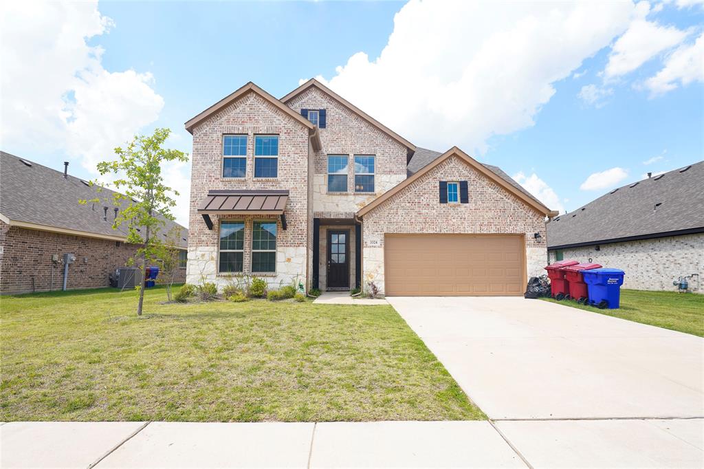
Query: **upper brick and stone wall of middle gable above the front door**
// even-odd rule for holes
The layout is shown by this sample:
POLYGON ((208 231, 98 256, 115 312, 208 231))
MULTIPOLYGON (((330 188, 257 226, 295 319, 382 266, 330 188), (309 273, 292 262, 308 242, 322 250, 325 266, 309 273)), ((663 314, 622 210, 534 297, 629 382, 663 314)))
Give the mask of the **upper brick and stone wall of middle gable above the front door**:
MULTIPOLYGON (((406 146, 391 139, 320 89, 310 87, 287 105, 301 109, 325 109, 326 125, 320 129, 322 151, 314 155, 313 211, 331 218, 348 218, 387 190, 406 179, 406 146), (327 192, 327 155, 348 155, 348 192, 327 192), (355 194, 354 155, 375 155, 374 194, 355 194)), ((318 215, 315 215, 317 218, 318 215)))

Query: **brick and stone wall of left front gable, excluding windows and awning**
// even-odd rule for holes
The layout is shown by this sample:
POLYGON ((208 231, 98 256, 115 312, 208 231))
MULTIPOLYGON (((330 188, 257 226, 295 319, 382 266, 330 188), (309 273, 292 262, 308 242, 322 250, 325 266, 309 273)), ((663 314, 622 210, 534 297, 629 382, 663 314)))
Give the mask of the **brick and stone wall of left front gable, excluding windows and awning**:
MULTIPOLYGON (((210 189, 288 189, 286 207, 288 229, 279 222, 277 230, 277 273, 265 278, 272 287, 288 284, 296 277, 307 282, 306 254, 308 251, 308 129, 261 96, 250 92, 212 115, 193 131, 191 166, 191 213, 189 224, 189 254, 187 281, 199 283, 202 278, 227 283, 225 275, 218 275, 219 225, 213 219, 213 230, 208 230, 197 213, 199 201, 210 189), (222 177, 222 136, 246 134, 246 177, 222 177), (277 178, 256 179, 254 173, 254 135, 279 135, 279 170, 277 178)), ((232 217, 228 217, 232 218, 232 217)), ((241 219, 242 217, 239 217, 241 219)), ((258 217, 257 219, 261 219, 258 217)), ((265 219, 266 217, 264 217, 265 219)), ((244 245, 244 273, 250 273, 247 262, 251 251, 251 221, 246 218, 244 245)))

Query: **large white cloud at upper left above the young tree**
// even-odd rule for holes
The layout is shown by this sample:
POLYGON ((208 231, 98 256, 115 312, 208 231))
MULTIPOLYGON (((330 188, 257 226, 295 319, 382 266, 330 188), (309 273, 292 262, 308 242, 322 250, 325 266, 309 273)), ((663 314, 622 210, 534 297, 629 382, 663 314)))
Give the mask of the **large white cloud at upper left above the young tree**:
POLYGON ((87 40, 108 32, 112 20, 92 2, 6 1, 0 14, 3 145, 65 151, 96 173, 164 101, 149 73, 109 72, 103 50, 87 40))

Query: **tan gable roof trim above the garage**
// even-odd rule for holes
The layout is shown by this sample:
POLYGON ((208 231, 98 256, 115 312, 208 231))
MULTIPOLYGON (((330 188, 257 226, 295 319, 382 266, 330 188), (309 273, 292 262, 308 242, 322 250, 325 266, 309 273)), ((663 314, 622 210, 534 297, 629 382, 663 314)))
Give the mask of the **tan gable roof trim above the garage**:
POLYGON ((403 191, 403 189, 406 189, 406 187, 413 184, 413 182, 419 180, 421 177, 423 177, 423 175, 429 173, 430 170, 435 168, 440 163, 446 161, 448 158, 451 158, 452 156, 457 156, 458 158, 460 158, 460 160, 467 163, 467 165, 470 165, 472 168, 474 168, 474 170, 477 170, 479 173, 484 175, 487 179, 495 182, 497 185, 503 187, 511 194, 517 196, 517 198, 522 200, 527 206, 534 208, 534 210, 538 211, 539 213, 542 213, 543 215, 553 215, 554 212, 552 212, 549 208, 541 204, 532 196, 527 195, 522 190, 517 189, 517 187, 510 184, 510 182, 505 180, 503 177, 497 175, 496 173, 494 173, 494 171, 489 170, 489 168, 486 168, 486 166, 482 165, 482 163, 479 163, 479 161, 467 155, 464 151, 458 149, 457 146, 453 146, 444 154, 441 154, 440 156, 435 158, 431 163, 425 165, 425 167, 418 170, 417 173, 406 178, 406 180, 404 180, 403 182, 384 192, 384 194, 377 197, 377 199, 371 201, 370 204, 367 204, 366 206, 360 208, 360 210, 357 212, 357 215, 361 217, 365 215, 365 213, 369 213, 370 211, 374 210, 376 207, 380 206, 385 201, 391 199, 391 197, 398 194, 398 192, 401 192, 403 191))

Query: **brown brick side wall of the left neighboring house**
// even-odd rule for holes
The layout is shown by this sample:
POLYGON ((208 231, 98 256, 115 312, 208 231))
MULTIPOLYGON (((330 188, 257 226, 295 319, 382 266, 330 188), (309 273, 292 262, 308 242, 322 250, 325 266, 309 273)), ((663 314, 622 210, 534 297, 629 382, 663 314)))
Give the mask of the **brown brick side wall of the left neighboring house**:
MULTIPOLYGON (((0 222, 0 292, 16 294, 60 290, 63 262, 56 254, 74 254, 69 265, 68 289, 109 287, 108 274, 136 255, 137 247, 109 239, 28 230, 0 222), (53 277, 53 280, 52 280, 53 277)), ((160 279, 163 280, 163 279, 160 279)), ((175 282, 185 281, 185 269, 177 269, 175 282)))

